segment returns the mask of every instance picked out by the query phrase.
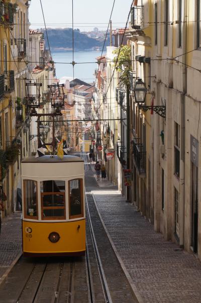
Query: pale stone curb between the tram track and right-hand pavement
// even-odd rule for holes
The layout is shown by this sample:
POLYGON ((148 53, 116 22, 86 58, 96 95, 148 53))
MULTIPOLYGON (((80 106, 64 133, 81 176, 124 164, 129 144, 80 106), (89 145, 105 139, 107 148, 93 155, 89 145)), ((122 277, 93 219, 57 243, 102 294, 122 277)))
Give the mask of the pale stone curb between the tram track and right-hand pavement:
POLYGON ((92 193, 92 197, 93 197, 93 200, 94 200, 95 207, 96 207, 96 209, 97 209, 98 215, 99 215, 99 217, 100 217, 100 220, 101 220, 101 222, 102 222, 102 224, 103 224, 103 226, 104 226, 104 229, 105 229, 105 231, 106 231, 106 234, 107 234, 107 236, 108 236, 108 238, 109 238, 109 240, 110 240, 111 246, 112 246, 112 248, 113 248, 113 250, 114 250, 114 252, 115 252, 115 254, 116 254, 116 256, 117 256, 117 259, 118 259, 118 261, 119 261, 119 263, 120 263, 120 265, 121 265, 121 267, 122 267, 122 270, 123 270, 123 272, 124 272, 124 274, 125 274, 125 276, 126 276, 128 282, 129 282, 129 284, 130 284, 130 286, 131 286, 131 289, 132 289, 132 291, 133 291, 133 293, 134 293, 134 296, 135 296, 135 298, 137 299, 138 303, 144 303, 144 301, 143 301, 143 299, 142 299, 142 297, 141 297, 139 291, 137 290, 137 287, 136 287, 135 284, 133 283, 133 280, 132 280, 132 278, 131 278, 129 272, 128 272, 128 270, 126 269, 126 267, 125 267, 125 265, 124 265, 124 262, 123 262, 122 258, 120 257, 120 255, 119 255, 119 253, 118 253, 118 251, 117 251, 117 249, 116 249, 116 247, 115 247, 115 244, 114 244, 114 242, 113 242, 113 240, 112 240, 112 238, 111 238, 111 236, 110 236, 110 234, 109 234, 109 232, 108 232, 108 229, 107 229, 107 227, 106 227, 106 225, 105 225, 105 223, 104 223, 104 220, 103 220, 102 216, 100 215, 100 212, 99 212, 99 210, 98 210, 98 208, 97 208, 97 204, 96 204, 96 201, 95 201, 95 197, 94 197, 93 191, 91 191, 91 193, 92 193))

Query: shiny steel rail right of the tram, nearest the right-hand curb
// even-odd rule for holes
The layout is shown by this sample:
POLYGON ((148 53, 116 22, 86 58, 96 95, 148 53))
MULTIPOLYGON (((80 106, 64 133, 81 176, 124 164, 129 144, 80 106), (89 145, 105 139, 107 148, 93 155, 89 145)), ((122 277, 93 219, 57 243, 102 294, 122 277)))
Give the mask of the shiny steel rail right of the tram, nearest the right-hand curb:
MULTIPOLYGON (((99 255, 99 252, 98 252, 98 247, 97 247, 97 243, 96 243, 96 240, 95 240, 95 235, 94 235, 94 231, 93 231, 93 226, 92 226, 92 222, 91 222, 91 218, 90 218, 90 212, 89 212, 88 202, 87 202, 87 197, 86 196, 85 196, 85 202, 86 202, 86 212, 87 212, 87 216, 88 216, 88 224, 89 224, 89 230, 90 230, 90 234, 91 234, 92 245, 93 245, 93 249, 94 249, 94 253, 95 253, 95 258, 96 258, 96 262, 97 262, 97 268, 98 268, 100 280, 102 282, 102 287, 103 287, 105 300, 106 300, 106 303, 113 303, 112 298, 111 298, 111 294, 110 294, 110 290, 109 290, 109 287, 108 287, 108 283, 107 283, 107 280, 106 280, 106 276, 105 276, 105 273, 104 273, 104 268, 103 268, 103 265, 102 265, 102 261, 100 259, 100 255, 99 255)), ((91 301, 91 302, 95 303, 95 301, 91 301)))

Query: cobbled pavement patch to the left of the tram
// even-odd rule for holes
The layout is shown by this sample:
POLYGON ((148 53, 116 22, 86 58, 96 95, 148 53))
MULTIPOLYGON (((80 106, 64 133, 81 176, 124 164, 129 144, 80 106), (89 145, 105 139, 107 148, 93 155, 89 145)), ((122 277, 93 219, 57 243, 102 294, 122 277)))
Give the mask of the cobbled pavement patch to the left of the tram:
POLYGON ((0 281, 12 262, 22 252, 21 213, 2 219, 0 235, 0 281))

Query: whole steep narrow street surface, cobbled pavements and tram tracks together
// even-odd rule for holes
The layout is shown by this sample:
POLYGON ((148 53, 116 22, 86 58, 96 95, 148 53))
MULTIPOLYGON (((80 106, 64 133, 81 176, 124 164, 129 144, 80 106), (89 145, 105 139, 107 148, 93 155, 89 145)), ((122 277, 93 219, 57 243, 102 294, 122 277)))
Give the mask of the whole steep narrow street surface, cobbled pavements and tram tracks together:
MULTIPOLYGON (((200 303, 200 262, 156 233, 109 180, 97 182, 88 155, 82 153, 81 158, 85 162, 90 220, 111 301, 200 303)), ((21 253, 20 214, 4 219, 0 237, 0 302, 107 301, 92 249, 88 217, 86 234, 89 274, 84 257, 21 257, 12 267, 21 253)))

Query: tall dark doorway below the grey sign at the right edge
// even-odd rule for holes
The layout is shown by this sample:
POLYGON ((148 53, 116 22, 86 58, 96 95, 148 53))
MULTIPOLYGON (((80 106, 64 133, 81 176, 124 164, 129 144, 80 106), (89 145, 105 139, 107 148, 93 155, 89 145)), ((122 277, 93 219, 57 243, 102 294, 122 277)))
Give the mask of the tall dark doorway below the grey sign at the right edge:
POLYGON ((197 167, 192 163, 192 196, 191 196, 191 246, 197 254, 198 237, 198 202, 197 202, 197 167))

